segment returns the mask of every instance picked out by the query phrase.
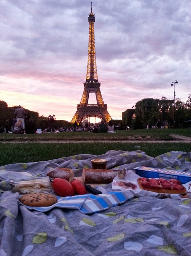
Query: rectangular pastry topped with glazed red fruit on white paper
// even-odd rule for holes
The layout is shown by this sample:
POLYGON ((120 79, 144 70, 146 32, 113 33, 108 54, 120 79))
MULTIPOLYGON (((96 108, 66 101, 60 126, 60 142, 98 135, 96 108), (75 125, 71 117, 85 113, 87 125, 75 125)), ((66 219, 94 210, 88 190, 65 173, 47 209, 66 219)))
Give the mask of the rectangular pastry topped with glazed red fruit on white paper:
POLYGON ((165 180, 163 178, 147 179, 147 178, 141 177, 137 179, 137 182, 141 189, 160 193, 160 194, 186 194, 187 193, 182 183, 176 179, 171 179, 171 180, 165 180), (166 186, 164 184, 166 184, 166 186), (171 188, 169 186, 171 186, 171 188), (165 187, 169 187, 169 188, 166 189, 165 187))

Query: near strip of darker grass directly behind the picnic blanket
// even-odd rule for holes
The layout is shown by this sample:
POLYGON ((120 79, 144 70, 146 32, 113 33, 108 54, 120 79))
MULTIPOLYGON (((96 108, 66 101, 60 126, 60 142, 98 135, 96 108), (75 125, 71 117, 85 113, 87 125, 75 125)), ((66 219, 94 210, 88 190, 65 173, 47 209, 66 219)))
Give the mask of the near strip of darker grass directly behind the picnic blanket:
POLYGON ((109 150, 141 150, 147 155, 155 157, 169 151, 190 152, 190 148, 190 143, 182 142, 0 143, 0 166, 46 161, 78 154, 101 155, 109 150))

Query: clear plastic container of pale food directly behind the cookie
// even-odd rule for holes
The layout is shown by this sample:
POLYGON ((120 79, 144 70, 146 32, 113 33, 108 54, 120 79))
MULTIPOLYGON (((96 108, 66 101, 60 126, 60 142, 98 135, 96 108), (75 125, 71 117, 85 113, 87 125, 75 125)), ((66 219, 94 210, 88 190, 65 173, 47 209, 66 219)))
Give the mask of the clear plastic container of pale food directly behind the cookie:
POLYGON ((20 194, 39 193, 51 191, 51 181, 49 177, 45 178, 31 178, 31 179, 17 179, 9 182, 13 187, 13 192, 20 194))

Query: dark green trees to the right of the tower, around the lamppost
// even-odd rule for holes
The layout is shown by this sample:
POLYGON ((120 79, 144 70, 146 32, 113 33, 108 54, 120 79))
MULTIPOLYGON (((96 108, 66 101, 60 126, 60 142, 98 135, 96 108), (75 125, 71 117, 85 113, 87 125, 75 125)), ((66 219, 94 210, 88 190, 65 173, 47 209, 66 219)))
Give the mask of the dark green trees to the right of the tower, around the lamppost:
POLYGON ((138 101, 135 108, 127 109, 122 113, 122 122, 124 126, 129 126, 133 129, 156 127, 157 120, 169 123, 173 127, 175 120, 175 128, 187 128, 188 123, 185 121, 191 120, 191 93, 188 95, 186 102, 180 99, 167 100, 162 96, 161 100, 146 98, 138 101), (174 113, 174 115, 173 115, 174 113))

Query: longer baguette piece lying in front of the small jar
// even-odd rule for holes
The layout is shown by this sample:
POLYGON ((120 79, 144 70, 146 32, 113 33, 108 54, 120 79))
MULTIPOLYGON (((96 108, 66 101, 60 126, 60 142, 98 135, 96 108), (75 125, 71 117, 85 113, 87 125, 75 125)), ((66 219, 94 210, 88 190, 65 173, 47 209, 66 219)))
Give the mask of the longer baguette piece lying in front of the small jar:
POLYGON ((117 176, 118 170, 83 169, 82 181, 84 183, 111 183, 117 176))

